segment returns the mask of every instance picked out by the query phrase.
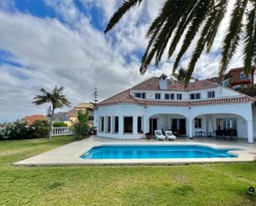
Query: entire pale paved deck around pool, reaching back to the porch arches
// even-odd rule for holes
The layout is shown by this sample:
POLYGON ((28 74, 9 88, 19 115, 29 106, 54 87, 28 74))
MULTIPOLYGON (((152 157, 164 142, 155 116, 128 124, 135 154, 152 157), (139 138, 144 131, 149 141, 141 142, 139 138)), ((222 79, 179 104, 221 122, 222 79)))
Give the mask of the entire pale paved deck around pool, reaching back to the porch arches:
MULTIPOLYGON (((58 137, 54 137, 58 138, 58 137)), ((40 165, 175 165, 191 163, 213 163, 213 162, 241 162, 256 159, 256 144, 249 144, 244 139, 239 140, 217 140, 213 137, 189 139, 179 137, 176 141, 156 140, 119 140, 92 136, 85 140, 75 141, 65 146, 60 146, 52 151, 46 151, 38 156, 32 156, 26 160, 16 162, 14 165, 40 166, 40 165), (109 159, 89 160, 82 159, 84 155, 94 146, 104 145, 198 145, 213 148, 237 148, 238 151, 229 151, 239 155, 232 158, 186 158, 186 159, 109 159)))

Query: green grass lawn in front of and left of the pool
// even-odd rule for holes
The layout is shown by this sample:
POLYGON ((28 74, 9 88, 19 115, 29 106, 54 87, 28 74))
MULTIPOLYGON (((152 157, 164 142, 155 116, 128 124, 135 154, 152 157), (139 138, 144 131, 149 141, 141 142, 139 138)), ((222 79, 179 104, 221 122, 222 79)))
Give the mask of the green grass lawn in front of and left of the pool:
POLYGON ((256 205, 256 162, 18 167, 71 137, 0 141, 0 205, 256 205))

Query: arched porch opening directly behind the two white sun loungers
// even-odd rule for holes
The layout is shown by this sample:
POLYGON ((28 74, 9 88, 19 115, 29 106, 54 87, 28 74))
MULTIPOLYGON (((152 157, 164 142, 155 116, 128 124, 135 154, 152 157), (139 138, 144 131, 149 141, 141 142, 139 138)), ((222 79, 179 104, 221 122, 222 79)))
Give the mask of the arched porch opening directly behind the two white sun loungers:
POLYGON ((188 119, 181 114, 157 113, 148 117, 147 132, 155 130, 172 131, 177 136, 187 136, 188 119))

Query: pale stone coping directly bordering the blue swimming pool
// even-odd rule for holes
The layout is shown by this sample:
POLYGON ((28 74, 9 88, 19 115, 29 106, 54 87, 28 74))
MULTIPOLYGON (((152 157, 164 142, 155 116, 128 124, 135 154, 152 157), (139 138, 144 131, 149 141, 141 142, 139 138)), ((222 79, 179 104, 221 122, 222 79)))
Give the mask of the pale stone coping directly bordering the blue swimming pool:
POLYGON ((216 162, 243 162, 254 161, 254 155, 250 154, 244 146, 219 146, 213 143, 200 142, 89 142, 75 141, 65 146, 60 146, 52 151, 46 151, 38 156, 32 156, 26 160, 21 160, 14 165, 42 166, 42 165, 176 165, 192 163, 216 163, 216 162), (88 144, 89 143, 89 144, 88 144), (176 159, 82 159, 94 146, 127 145, 127 146, 208 146, 213 149, 232 149, 228 153, 238 155, 238 157, 225 158, 176 158, 176 159), (237 150, 234 150, 237 149, 237 150))

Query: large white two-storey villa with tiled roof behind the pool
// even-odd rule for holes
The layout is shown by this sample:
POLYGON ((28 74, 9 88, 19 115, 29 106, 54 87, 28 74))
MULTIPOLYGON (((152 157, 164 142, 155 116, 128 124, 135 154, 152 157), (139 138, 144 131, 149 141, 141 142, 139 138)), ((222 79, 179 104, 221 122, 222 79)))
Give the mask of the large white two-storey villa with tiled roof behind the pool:
POLYGON ((210 80, 197 80, 185 88, 162 74, 100 102, 94 110, 94 127, 99 137, 124 139, 143 138, 161 129, 186 137, 233 130, 235 136, 253 142, 254 101, 210 80))

